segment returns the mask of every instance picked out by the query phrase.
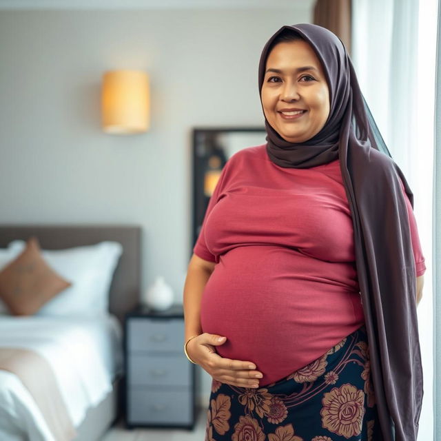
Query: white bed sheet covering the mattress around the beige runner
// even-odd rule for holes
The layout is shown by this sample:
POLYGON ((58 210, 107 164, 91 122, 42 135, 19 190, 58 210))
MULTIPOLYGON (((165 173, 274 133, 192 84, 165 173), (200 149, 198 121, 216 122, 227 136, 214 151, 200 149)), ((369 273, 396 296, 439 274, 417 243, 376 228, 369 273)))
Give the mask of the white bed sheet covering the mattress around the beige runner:
MULTIPOLYGON (((75 427, 112 390, 112 380, 123 371, 121 325, 111 315, 0 316, 0 347, 33 349, 50 362, 75 427)), ((13 373, 0 370, 0 440, 23 439, 52 441, 28 390, 13 373)))

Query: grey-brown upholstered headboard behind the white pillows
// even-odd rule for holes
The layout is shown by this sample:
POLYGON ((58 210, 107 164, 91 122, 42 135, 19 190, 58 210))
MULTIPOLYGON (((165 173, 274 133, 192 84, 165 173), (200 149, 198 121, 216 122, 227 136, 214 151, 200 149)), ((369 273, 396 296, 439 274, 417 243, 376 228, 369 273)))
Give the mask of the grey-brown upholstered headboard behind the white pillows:
POLYGON ((141 227, 137 225, 0 225, 0 248, 11 240, 37 236, 43 249, 63 249, 115 240, 123 254, 110 287, 110 312, 123 322, 139 302, 141 290, 141 227))

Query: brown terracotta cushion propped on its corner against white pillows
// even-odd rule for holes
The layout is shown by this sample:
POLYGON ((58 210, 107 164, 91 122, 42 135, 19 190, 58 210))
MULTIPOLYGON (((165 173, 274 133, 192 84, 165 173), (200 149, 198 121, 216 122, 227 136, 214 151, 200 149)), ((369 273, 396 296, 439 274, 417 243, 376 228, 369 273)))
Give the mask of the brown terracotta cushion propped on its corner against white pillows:
POLYGON ((0 271, 0 298, 16 316, 35 314, 70 285, 45 262, 35 237, 0 271))

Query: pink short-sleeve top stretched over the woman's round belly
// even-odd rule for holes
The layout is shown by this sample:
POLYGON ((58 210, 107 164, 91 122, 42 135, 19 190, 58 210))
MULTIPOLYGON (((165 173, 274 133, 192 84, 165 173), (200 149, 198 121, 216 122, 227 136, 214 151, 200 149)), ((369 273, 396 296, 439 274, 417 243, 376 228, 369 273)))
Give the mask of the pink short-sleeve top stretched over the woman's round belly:
MULTIPOLYGON (((424 256, 406 200, 420 276, 424 256)), ((254 362, 260 386, 364 323, 338 160, 285 168, 269 160, 266 145, 240 150, 223 168, 193 251, 216 263, 201 301, 203 332, 227 337, 220 356, 254 362)))

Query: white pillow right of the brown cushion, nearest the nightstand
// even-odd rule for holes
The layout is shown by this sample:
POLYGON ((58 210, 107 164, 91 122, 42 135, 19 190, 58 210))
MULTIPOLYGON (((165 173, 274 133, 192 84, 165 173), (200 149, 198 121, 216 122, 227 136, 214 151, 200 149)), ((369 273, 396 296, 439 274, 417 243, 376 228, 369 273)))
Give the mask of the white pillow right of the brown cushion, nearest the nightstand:
MULTIPOLYGON (((9 244, 12 253, 21 252, 24 240, 9 244)), ((69 249, 42 249, 48 265, 72 286, 45 303, 37 316, 103 316, 109 311, 109 291, 119 257, 120 243, 104 241, 69 249)))

